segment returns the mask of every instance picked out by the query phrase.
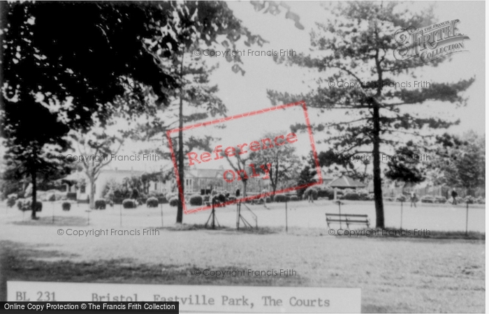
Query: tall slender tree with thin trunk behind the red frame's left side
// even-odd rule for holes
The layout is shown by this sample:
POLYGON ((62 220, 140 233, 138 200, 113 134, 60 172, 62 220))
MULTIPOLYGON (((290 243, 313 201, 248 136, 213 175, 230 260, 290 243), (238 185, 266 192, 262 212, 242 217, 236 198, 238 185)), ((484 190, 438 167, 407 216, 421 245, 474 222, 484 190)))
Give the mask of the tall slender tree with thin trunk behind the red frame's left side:
MULTIPOLYGON (((156 59, 159 59, 159 65, 162 69, 173 69, 173 77, 179 84, 179 89, 170 93, 173 107, 163 110, 163 117, 165 114, 171 113, 172 110, 176 112, 177 119, 175 122, 180 130, 177 138, 172 139, 173 142, 176 142, 177 147, 173 162, 178 177, 183 180, 185 141, 182 129, 184 124, 226 113, 224 103, 216 96, 217 86, 209 84, 210 73, 214 67, 207 66, 202 57, 199 57, 202 50, 214 50, 217 47, 224 47, 224 50, 236 50, 240 38, 244 39, 242 42, 245 45, 263 45, 265 41, 243 27, 241 21, 234 17, 233 11, 224 2, 184 1, 173 3, 173 6, 176 14, 166 27, 177 38, 175 51, 169 56, 161 54, 159 50, 154 50, 153 54, 156 59), (189 108, 191 112, 187 112, 189 108)), ((155 43, 159 40, 164 40, 164 37, 154 38, 155 43)), ((226 61, 234 63, 232 70, 235 73, 244 75, 245 71, 240 67, 240 63, 242 63, 240 56, 233 58, 228 55, 226 61)), ((145 139, 161 140, 161 136, 167 130, 175 128, 171 120, 168 121, 168 119, 158 116, 152 117, 151 120, 149 123, 145 122, 143 126, 136 128, 137 132, 143 134, 145 139)), ((181 184, 179 186, 180 202, 177 206, 177 223, 182 223, 183 220, 183 198, 184 185, 181 184)))

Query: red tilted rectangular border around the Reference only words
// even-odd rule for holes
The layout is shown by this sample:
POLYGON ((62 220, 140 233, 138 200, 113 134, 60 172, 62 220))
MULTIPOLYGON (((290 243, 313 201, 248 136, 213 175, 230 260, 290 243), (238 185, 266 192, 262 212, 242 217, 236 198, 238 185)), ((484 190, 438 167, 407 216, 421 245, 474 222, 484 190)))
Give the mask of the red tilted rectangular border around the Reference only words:
MULTIPOLYGON (((319 184, 323 184, 323 176, 321 174, 321 167, 319 167, 319 158, 318 158, 317 152, 316 152, 316 144, 314 144, 314 138, 312 137, 312 128, 311 128, 311 123, 309 121, 309 114, 307 114, 306 103, 304 100, 302 100, 302 101, 298 101, 297 103, 289 103, 286 105, 279 105, 279 106, 274 106, 274 107, 268 107, 268 108, 261 109, 261 110, 250 111, 250 112, 246 112, 243 114, 235 114, 232 117, 224 117, 224 118, 215 119, 212 121, 201 122, 201 123, 192 124, 189 126, 184 126, 182 128, 182 131, 190 130, 191 128, 198 128, 200 126, 209 126, 212 124, 219 124, 221 122, 226 122, 226 121, 230 121, 230 120, 238 119, 238 118, 243 118, 243 117, 252 117, 256 114, 263 114, 265 112, 270 112, 270 111, 279 110, 279 109, 285 109, 285 108, 298 106, 298 105, 302 106, 302 109, 304 110, 304 117, 305 117, 305 121, 306 121, 307 132, 309 133, 309 142, 311 142, 312 154, 314 156, 314 163, 316 163, 316 173, 319 177, 319 181, 312 182, 309 184, 302 184, 300 186, 294 186, 291 188, 284 188, 282 190, 275 191, 275 193, 273 193, 273 192, 261 193, 258 195, 240 198, 237 200, 230 200, 230 201, 225 202, 225 203, 220 203, 220 204, 214 205, 214 207, 223 207, 225 205, 235 204, 236 202, 245 202, 247 200, 254 200, 257 198, 261 198, 261 197, 266 197, 266 196, 280 194, 280 193, 286 193, 286 192, 290 192, 292 190, 300 190, 301 188, 307 188, 309 186, 316 186, 319 184)), ((177 178, 178 194, 180 195, 180 200, 183 200, 182 206, 183 206, 184 214, 192 214, 196 211, 205 211, 207 209, 212 209, 212 206, 209 205, 206 207, 199 207, 199 208, 191 209, 191 210, 187 211, 187 204, 185 204, 185 197, 184 197, 184 193, 182 190, 182 182, 180 180, 180 176, 178 175, 177 158, 175 157, 175 151, 173 149, 173 143, 172 143, 171 136, 170 136, 172 133, 176 133, 178 131, 180 131, 180 128, 173 128, 172 130, 168 130, 168 131, 166 131, 166 137, 168 139, 168 146, 170 147, 171 158, 173 161, 173 168, 175 169, 175 177, 177 178)))

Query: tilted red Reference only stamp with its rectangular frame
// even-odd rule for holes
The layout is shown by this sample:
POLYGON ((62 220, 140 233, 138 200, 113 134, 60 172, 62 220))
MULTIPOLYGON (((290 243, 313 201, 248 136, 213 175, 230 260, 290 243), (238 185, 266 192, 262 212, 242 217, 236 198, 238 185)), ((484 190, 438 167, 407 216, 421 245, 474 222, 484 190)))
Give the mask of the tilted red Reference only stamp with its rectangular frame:
MULTIPOLYGON (((317 180, 316 182, 312 182, 309 184, 301 184, 298 186, 289 186, 286 188, 279 188, 273 191, 262 191, 261 193, 254 193, 254 195, 242 195, 241 197, 236 197, 233 200, 226 200, 224 202, 219 202, 218 204, 214 204, 214 207, 223 207, 228 204, 234 204, 237 202, 246 202, 249 200, 257 200, 262 197, 269 197, 271 195, 275 194, 281 194, 281 193, 287 193, 291 192, 293 190, 299 190, 302 188, 307 188, 309 186, 314 186, 314 185, 319 185, 323 183, 323 178, 321 177, 321 167, 319 166, 319 159, 317 156, 316 152, 316 145, 314 144, 314 138, 312 136, 312 128, 310 125, 309 121, 309 115, 307 114, 307 107, 306 103, 304 101, 300 101, 297 103, 289 103, 286 105, 278 105, 275 107, 268 107, 265 109, 261 110, 256 110, 256 111, 251 111, 251 112, 246 112, 243 114, 236 114, 232 117, 224 117, 220 119, 215 119, 212 121, 205 121, 205 122, 200 122, 197 124, 191 124, 189 126, 184 126, 182 128, 182 133, 189 132, 190 130, 195 130, 199 133, 202 133, 203 129, 206 126, 214 126, 214 125, 219 125, 219 124, 226 124, 226 123, 231 123, 231 121, 236 121, 238 119, 243 119, 244 121, 249 122, 250 128, 253 128, 253 123, 256 122, 256 118, 261 115, 265 114, 274 114, 278 116, 279 114, 282 114, 282 119, 284 118, 284 114, 289 114, 292 115, 294 112, 284 112, 284 110, 287 110, 289 108, 302 108, 303 112, 303 117, 305 121, 305 126, 307 128, 307 135, 308 135, 308 140, 309 140, 309 145, 310 149, 312 151, 312 156, 314 158, 314 163, 316 167, 316 173, 317 173, 317 180)), ((297 116, 297 114, 295 114, 297 116)), ((270 119, 270 117, 268 117, 270 119)), ((280 119, 277 117, 277 119, 280 119)), ((222 126, 224 127, 224 126, 222 126)), ((175 170, 175 177, 177 181, 177 187, 178 187, 178 193, 180 195, 180 200, 182 200, 182 205, 183 205, 183 210, 184 214, 191 214, 196 211, 204 211, 207 209, 212 209, 212 205, 209 203, 205 204, 200 207, 188 207, 187 202, 185 201, 184 197, 184 182, 187 182, 185 178, 180 178, 179 172, 178 172, 178 167, 177 167, 177 156, 175 154, 175 149, 173 147, 173 142, 172 142, 172 136, 174 136, 174 133, 178 133, 180 131, 180 128, 174 128, 172 130, 168 130, 166 132, 166 137, 168 138, 168 145, 170 148, 170 154, 171 158, 173 161, 173 167, 175 170)), ((266 149, 273 149, 273 147, 282 147, 284 145, 297 145, 299 142, 299 137, 297 134, 287 131, 287 132, 282 132, 282 133, 276 133, 272 137, 258 137, 258 138, 253 138, 251 140, 245 140, 245 132, 242 132, 240 130, 237 136, 237 140, 234 140, 233 144, 215 144, 213 145, 214 149, 212 151, 203 151, 200 154, 196 151, 190 151, 187 154, 184 155, 184 165, 188 169, 193 169, 193 167, 198 167, 198 166, 203 166, 207 164, 212 164, 219 162, 219 160, 230 160, 230 158, 246 158, 247 156, 250 156, 250 154, 254 154, 259 151, 263 151, 266 149), (242 138, 242 140, 241 140, 242 138)), ((235 137, 236 138, 236 137, 235 137)), ((303 142, 306 142, 304 138, 302 138, 303 142)), ((301 143, 302 144, 302 143, 301 143)), ((304 145, 304 144, 302 144, 304 145)), ((303 146, 302 146, 303 147, 303 146)), ((222 167, 222 166, 221 166, 222 167)), ((246 165, 246 167, 240 167, 240 169, 237 169, 236 167, 233 167, 233 169, 227 169, 227 170, 222 170, 219 174, 221 175, 221 180, 224 180, 224 182, 228 184, 238 184, 243 181, 243 179, 270 179, 270 174, 272 173, 272 167, 273 165, 271 163, 265 163, 265 164, 255 164, 255 163, 249 163, 246 165)), ((189 170, 186 170, 187 172, 189 170)), ((217 178, 219 179, 219 178, 217 178)), ((212 195, 211 195, 212 197, 212 195)))

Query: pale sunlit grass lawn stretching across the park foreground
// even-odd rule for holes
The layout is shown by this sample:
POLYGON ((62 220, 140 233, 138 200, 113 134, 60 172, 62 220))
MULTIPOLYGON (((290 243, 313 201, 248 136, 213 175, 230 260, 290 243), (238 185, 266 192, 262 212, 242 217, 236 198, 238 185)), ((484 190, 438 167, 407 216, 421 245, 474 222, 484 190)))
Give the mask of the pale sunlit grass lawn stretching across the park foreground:
MULTIPOLYGON (((161 228, 160 209, 122 209, 121 227, 121 211, 117 207, 87 213, 85 208, 63 212, 56 207, 50 211, 45 206, 41 219, 31 221, 28 217, 22 220, 22 212, 17 209, 0 206, 0 299, 6 298, 7 280, 292 285, 361 287, 363 312, 485 311, 484 233, 471 232, 466 238, 464 232, 457 232, 460 231, 457 227, 434 232, 430 238, 330 236, 324 221, 329 205, 324 205, 325 209, 321 204, 308 207, 307 203, 289 209, 289 232, 285 233, 283 205, 274 209, 277 205, 272 204, 270 209, 253 208, 258 216, 258 231, 235 230, 234 207, 219 211, 219 223, 224 228, 203 230, 201 225, 209 212, 185 216, 184 220, 191 225, 175 227, 175 209, 163 207, 161 228), (316 216, 321 217, 321 224, 315 221, 316 216), (306 220, 311 220, 309 226, 306 220), (60 228, 147 227, 160 227, 159 235, 57 234, 60 228), (194 269, 206 268, 293 269, 298 276, 194 276, 194 269)), ((352 206, 345 210, 360 209, 352 206)), ((462 225, 465 227, 465 220, 462 225)))

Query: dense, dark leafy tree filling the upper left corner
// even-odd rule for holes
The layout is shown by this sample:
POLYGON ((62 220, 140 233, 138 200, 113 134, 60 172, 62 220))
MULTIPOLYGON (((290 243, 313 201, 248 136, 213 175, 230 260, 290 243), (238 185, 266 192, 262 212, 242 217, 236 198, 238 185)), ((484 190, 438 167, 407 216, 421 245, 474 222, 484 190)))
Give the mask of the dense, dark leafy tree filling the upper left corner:
MULTIPOLYGON (((36 178, 58 167, 56 153, 69 148, 69 130, 87 130, 95 112, 105 121, 115 111, 122 82, 149 87, 156 105, 177 87, 156 66, 146 40, 161 35, 171 3, 2 2, 1 136, 9 160, 29 173, 35 218, 36 178), (53 147, 54 150, 53 150, 53 147)), ((167 33, 152 49, 170 54, 167 33)), ((129 98, 148 94, 133 91, 129 98)), ((138 102, 140 103, 140 102, 138 102)), ((125 103, 123 110, 140 112, 125 103)))

